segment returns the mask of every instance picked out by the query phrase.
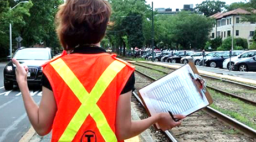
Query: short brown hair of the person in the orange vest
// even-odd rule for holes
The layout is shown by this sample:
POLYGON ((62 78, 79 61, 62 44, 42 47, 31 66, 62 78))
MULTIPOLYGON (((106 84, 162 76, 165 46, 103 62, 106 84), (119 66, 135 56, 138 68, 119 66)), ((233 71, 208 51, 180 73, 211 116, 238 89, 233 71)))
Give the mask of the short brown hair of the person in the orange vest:
POLYGON ((57 34, 64 50, 99 43, 110 15, 110 4, 104 0, 66 0, 56 15, 57 34))

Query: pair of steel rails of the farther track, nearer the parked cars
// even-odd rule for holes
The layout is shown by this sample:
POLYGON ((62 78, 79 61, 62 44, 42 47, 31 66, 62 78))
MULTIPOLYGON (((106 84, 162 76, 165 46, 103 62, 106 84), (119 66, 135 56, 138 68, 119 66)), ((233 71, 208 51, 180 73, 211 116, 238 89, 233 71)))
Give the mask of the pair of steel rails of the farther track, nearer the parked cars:
MULTIPOLYGON (((165 74, 168 74, 170 72, 167 72, 167 71, 162 71, 162 70, 159 70, 159 69, 155 69, 153 67, 149 67, 149 66, 145 66, 145 65, 141 65, 141 64, 136 64, 135 62, 130 62, 131 64, 134 64, 134 65, 137 65, 137 66, 141 66, 141 67, 145 67, 147 69, 151 69, 151 70, 155 70, 155 71, 158 71, 158 72, 162 72, 162 73, 165 73, 165 74)), ((146 64, 146 63, 144 63, 146 64)), ((154 66, 157 66, 154 64, 154 66)), ((158 65, 160 67, 165 67, 165 66, 161 66, 161 65, 158 65)), ((176 70, 175 68, 169 68, 171 70, 176 70)), ((222 78, 217 78, 217 77, 212 77, 212 76, 208 76, 208 75, 201 75, 202 77, 204 78, 211 78, 213 80, 220 80, 220 81, 224 81, 224 82, 229 82, 229 83, 234 83, 235 85, 239 85, 239 86, 242 86, 242 87, 245 87, 245 88, 248 88, 249 90, 255 90, 256 91, 256 87, 254 86, 250 86, 250 85, 246 85, 246 84, 243 84, 243 83, 240 83, 240 82, 234 82, 234 81, 229 81, 229 80, 224 80, 222 78)), ((231 96, 233 98, 237 98, 239 99, 240 101, 243 101, 245 103, 248 103, 248 104, 252 104, 253 106, 256 106, 256 102, 251 100, 252 98, 245 98, 245 97, 241 97, 239 96, 238 94, 234 94, 234 93, 231 93, 231 92, 227 92, 227 91, 223 91, 219 88, 216 88, 216 87, 213 87, 213 86, 209 86, 207 85, 208 88, 211 88, 212 90, 214 91, 217 91, 219 93, 222 93, 222 94, 225 94, 227 96, 231 96)), ((256 99, 256 95, 255 95, 255 98, 256 99)))

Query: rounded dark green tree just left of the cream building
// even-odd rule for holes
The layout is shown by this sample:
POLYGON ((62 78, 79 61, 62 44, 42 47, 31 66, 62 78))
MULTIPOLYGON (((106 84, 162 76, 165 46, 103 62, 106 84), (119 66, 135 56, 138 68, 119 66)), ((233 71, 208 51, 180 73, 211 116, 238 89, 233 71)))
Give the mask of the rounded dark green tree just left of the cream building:
POLYGON ((181 12, 173 20, 170 29, 177 44, 185 49, 202 49, 208 40, 208 34, 212 30, 213 20, 204 15, 181 12))

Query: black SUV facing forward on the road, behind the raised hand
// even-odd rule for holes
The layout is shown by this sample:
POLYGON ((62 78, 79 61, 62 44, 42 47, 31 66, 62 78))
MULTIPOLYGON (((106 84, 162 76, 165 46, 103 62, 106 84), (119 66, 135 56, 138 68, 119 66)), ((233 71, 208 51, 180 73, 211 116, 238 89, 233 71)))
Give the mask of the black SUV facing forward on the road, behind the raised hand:
MULTIPOLYGON (((40 85, 42 78, 41 65, 52 59, 53 55, 50 48, 21 48, 14 53, 13 58, 28 66, 28 85, 40 85)), ((12 61, 4 67, 3 77, 6 90, 12 90, 13 85, 17 85, 15 70, 16 65, 12 61)))

